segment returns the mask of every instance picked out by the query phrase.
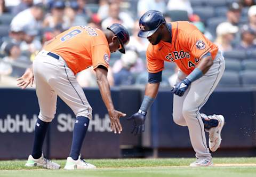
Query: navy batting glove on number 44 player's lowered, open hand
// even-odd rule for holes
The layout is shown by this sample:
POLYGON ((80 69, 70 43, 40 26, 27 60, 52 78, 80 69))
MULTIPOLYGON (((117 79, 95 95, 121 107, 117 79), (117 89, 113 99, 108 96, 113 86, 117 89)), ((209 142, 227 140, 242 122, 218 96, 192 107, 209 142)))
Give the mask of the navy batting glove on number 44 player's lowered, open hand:
POLYGON ((132 134, 137 135, 138 133, 145 131, 145 119, 146 119, 147 112, 139 110, 135 114, 133 114, 131 117, 126 118, 127 120, 133 120, 133 130, 132 134))

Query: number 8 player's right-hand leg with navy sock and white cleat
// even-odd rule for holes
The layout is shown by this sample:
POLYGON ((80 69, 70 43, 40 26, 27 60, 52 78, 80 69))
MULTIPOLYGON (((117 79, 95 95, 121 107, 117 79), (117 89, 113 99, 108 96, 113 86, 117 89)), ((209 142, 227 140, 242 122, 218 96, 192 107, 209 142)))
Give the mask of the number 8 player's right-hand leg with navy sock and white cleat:
POLYGON ((86 99, 82 87, 77 83, 74 73, 65 65, 62 59, 60 59, 60 65, 61 71, 58 74, 58 78, 50 82, 50 85, 76 115, 73 141, 65 169, 95 168, 94 165, 84 162, 79 155, 92 117, 92 108, 86 99))

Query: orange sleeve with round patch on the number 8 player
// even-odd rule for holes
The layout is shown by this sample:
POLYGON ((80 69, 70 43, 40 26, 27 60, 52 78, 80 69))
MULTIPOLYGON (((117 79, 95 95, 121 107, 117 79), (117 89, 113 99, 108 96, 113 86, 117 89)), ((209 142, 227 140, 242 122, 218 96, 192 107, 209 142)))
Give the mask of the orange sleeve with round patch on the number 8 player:
POLYGON ((105 44, 94 45, 92 47, 92 66, 96 69, 98 66, 102 65, 108 69, 109 66, 109 47, 105 44))

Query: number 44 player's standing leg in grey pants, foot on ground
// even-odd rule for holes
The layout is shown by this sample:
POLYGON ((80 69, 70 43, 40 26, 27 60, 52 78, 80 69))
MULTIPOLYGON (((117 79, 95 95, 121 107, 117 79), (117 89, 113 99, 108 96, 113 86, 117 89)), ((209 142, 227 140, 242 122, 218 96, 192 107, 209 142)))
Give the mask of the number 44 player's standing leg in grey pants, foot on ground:
POLYGON ((207 166, 211 164, 211 154, 207 148, 204 123, 199 110, 209 99, 225 70, 223 57, 215 58, 213 63, 213 66, 203 77, 191 84, 183 103, 182 112, 188 125, 190 141, 196 152, 196 157, 201 160, 192 165, 207 166))

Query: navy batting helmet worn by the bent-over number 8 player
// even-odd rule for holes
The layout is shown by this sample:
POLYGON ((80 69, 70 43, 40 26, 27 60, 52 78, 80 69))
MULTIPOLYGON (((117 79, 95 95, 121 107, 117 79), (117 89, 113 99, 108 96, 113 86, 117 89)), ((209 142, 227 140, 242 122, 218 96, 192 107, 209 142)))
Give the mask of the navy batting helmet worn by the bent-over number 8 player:
POLYGON ((122 45, 122 49, 119 50, 121 53, 125 53, 124 45, 128 44, 130 41, 130 36, 127 29, 118 23, 114 23, 113 25, 109 26, 107 29, 112 31, 118 38, 119 42, 122 45))

